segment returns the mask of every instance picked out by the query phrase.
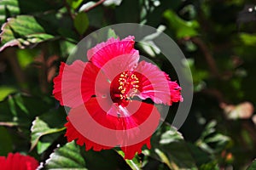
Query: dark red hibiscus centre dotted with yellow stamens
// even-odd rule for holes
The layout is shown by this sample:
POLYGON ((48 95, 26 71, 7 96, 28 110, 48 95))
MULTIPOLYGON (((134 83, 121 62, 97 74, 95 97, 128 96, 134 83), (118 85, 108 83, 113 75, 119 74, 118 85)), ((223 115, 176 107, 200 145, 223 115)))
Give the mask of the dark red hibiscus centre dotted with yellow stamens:
POLYGON ((111 82, 111 99, 118 105, 127 105, 128 100, 137 94, 138 78, 132 71, 120 73, 111 82))

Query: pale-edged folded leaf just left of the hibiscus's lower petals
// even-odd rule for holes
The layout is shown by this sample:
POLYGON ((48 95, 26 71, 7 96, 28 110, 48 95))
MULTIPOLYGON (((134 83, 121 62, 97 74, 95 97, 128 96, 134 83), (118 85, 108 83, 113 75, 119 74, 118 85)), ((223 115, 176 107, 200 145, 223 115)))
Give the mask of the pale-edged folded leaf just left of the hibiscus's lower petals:
MULTIPOLYGON (((38 144, 39 139, 41 137, 43 137, 44 135, 51 134, 51 133, 59 133, 59 132, 63 131, 64 129, 65 129, 65 127, 50 128, 46 122, 42 121, 39 117, 36 117, 36 119, 32 122, 32 127, 31 127, 31 143, 32 143, 31 150, 36 146, 36 144, 38 144)), ((52 140, 54 140, 54 139, 52 139, 52 140)), ((50 143, 50 142, 47 141, 46 143, 50 143)), ((48 144, 48 146, 49 146, 49 144, 48 144)), ((38 150, 39 150, 39 152, 42 152, 42 149, 39 148, 38 150)))

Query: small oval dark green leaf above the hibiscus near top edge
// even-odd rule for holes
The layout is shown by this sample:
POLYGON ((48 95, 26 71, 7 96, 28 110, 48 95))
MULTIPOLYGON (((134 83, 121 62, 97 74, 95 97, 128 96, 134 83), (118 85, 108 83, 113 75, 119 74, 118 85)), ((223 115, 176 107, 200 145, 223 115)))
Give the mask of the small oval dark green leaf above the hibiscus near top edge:
POLYGON ((75 19, 73 20, 73 25, 79 32, 79 34, 83 35, 89 26, 87 14, 85 14, 84 12, 77 14, 75 19))

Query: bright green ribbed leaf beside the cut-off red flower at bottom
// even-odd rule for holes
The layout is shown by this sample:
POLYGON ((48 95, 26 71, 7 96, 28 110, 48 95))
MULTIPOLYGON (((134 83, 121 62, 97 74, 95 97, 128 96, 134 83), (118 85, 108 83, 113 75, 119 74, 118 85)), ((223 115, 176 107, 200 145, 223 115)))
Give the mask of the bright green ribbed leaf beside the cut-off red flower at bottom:
POLYGON ((45 167, 46 169, 86 169, 79 146, 74 141, 56 149, 46 160, 45 167))

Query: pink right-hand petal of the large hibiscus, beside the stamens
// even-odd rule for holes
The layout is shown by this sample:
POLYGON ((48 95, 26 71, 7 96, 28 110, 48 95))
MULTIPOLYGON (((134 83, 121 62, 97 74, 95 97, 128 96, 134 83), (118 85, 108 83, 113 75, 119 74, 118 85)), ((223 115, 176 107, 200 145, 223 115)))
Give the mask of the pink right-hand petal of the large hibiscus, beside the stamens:
POLYGON ((150 98, 156 104, 172 105, 172 102, 182 101, 181 88, 177 82, 172 82, 168 75, 156 65, 146 61, 138 64, 137 77, 139 78, 139 91, 137 96, 141 99, 150 98))

